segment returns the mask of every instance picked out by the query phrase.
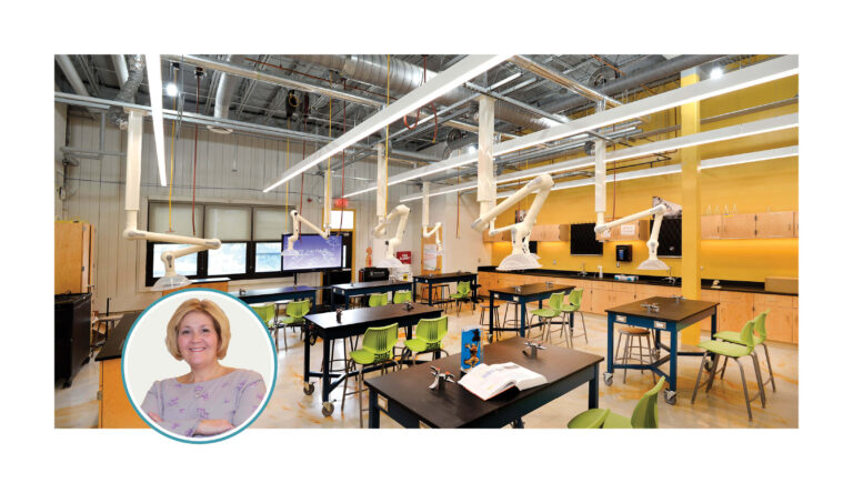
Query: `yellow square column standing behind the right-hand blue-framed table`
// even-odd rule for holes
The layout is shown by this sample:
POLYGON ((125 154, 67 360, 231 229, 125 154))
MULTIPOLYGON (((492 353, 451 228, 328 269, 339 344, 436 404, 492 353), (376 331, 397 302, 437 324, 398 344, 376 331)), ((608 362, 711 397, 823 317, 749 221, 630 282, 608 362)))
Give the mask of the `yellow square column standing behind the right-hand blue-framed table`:
MULTIPOLYGON (((699 82, 699 71, 691 69, 681 73, 681 85, 699 82)), ((681 137, 700 132, 699 102, 681 108, 681 137)), ((700 300, 702 275, 700 274, 701 209, 700 209, 700 158, 699 147, 681 150, 681 294, 685 299, 700 300)), ((681 341, 685 344, 699 343, 700 326, 693 324, 681 331, 681 341)))

